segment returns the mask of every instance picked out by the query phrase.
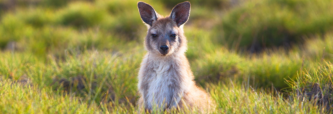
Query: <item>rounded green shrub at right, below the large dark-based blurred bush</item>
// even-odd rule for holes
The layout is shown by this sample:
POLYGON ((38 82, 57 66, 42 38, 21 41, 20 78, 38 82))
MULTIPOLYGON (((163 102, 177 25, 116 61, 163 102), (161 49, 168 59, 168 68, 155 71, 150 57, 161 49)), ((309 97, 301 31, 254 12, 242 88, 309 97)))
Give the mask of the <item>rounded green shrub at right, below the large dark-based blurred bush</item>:
POLYGON ((244 70, 244 75, 239 78, 241 80, 249 78, 251 85, 255 87, 274 86, 280 90, 288 87, 285 79, 296 79, 297 71, 308 66, 307 63, 302 63, 302 57, 298 54, 286 55, 282 51, 275 51, 272 54, 264 53, 247 59, 247 62, 242 62, 241 68, 244 70))

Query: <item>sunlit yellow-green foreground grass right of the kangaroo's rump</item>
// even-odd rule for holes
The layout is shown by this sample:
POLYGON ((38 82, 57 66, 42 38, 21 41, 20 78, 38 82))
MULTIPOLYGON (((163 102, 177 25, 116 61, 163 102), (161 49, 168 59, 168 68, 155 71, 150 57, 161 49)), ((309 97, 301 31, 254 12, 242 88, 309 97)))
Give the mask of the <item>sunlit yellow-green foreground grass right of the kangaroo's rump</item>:
POLYGON ((248 84, 209 85, 210 94, 218 103, 217 113, 323 113, 312 101, 284 98, 275 90, 255 90, 248 84), (319 110, 318 110, 319 109, 319 110))

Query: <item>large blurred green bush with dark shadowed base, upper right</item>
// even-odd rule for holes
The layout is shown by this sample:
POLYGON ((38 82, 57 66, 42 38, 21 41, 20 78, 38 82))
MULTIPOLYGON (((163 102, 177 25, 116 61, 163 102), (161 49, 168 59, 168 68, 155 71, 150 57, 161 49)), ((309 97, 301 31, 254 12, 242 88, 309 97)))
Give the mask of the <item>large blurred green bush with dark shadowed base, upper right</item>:
POLYGON ((255 52, 266 47, 301 43, 302 36, 332 29, 332 1, 259 0, 223 15, 216 26, 220 43, 255 52))

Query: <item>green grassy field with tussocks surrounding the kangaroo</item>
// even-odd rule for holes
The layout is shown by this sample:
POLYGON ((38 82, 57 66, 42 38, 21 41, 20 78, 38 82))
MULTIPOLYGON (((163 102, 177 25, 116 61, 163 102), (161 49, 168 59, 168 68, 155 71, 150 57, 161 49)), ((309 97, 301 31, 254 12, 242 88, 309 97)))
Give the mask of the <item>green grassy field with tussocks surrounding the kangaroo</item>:
MULTIPOLYGON (((138 113, 137 2, 1 0, 0 113, 138 113)), ((186 56, 213 113, 332 113, 332 1, 190 2, 186 56)))

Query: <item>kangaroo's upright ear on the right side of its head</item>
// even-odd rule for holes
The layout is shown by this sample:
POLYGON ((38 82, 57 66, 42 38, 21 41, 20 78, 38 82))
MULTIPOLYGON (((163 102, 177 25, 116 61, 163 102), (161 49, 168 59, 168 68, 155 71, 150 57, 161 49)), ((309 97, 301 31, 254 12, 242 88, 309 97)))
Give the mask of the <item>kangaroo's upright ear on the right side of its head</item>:
POLYGON ((179 3, 172 9, 170 18, 176 21, 177 26, 179 27, 187 21, 190 9, 191 4, 189 2, 179 3))

